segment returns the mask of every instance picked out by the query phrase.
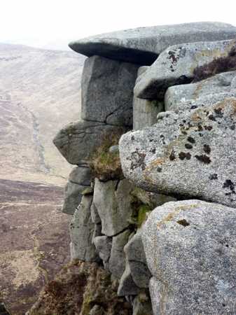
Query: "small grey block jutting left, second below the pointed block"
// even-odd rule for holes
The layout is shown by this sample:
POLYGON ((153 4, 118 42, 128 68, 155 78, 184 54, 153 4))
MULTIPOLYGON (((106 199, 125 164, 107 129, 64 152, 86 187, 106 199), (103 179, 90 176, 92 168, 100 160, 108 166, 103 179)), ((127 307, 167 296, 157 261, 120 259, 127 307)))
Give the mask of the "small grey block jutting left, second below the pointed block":
POLYGON ((69 181, 64 188, 64 202, 62 212, 64 214, 74 214, 76 208, 81 203, 82 193, 88 186, 81 186, 69 181))

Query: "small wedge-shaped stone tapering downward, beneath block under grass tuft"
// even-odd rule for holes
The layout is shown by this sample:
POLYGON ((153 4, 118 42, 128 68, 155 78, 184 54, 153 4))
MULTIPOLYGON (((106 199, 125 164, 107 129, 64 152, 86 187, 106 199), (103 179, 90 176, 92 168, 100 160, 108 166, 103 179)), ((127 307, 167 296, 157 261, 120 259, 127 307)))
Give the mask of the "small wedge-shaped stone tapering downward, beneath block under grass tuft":
POLYGON ((102 259, 105 269, 109 269, 109 258, 111 256, 112 237, 105 235, 95 237, 94 244, 99 257, 102 259))

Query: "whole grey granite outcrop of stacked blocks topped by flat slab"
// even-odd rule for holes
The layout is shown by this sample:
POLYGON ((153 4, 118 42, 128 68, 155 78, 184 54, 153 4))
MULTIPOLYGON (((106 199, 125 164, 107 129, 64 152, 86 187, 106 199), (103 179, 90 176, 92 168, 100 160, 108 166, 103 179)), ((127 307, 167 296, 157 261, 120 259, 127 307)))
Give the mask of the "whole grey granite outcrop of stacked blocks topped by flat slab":
POLYGON ((70 44, 88 55, 83 121, 54 139, 77 165, 71 260, 102 265, 133 315, 235 312, 235 38, 203 22, 70 44))

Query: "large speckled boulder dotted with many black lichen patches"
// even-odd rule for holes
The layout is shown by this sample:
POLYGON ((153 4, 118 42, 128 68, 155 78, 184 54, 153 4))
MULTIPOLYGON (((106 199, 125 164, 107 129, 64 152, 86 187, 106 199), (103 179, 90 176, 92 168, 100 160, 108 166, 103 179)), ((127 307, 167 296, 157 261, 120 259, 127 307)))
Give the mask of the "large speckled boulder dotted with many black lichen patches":
POLYGON ((191 111, 120 139, 123 173, 144 190, 236 207, 236 98, 191 111))

